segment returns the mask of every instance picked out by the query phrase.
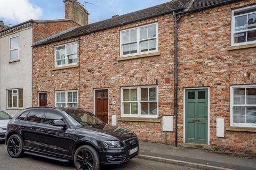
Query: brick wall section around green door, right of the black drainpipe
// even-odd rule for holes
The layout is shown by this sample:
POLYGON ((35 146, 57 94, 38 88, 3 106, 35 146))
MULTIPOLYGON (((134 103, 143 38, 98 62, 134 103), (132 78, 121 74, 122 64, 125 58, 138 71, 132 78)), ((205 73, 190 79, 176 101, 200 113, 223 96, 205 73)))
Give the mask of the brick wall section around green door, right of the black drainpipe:
POLYGON ((210 87, 210 146, 256 155, 256 133, 225 131, 216 137, 216 118, 229 126, 230 86, 256 84, 255 48, 228 51, 231 10, 256 1, 241 1, 188 14, 179 22, 179 142, 183 142, 183 88, 210 87))

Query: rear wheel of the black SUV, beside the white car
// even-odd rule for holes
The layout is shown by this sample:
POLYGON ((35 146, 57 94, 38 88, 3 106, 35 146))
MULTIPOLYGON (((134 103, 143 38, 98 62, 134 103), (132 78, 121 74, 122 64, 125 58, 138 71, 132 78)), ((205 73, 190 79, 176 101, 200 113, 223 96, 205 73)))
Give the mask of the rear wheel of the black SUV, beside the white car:
POLYGON ((18 134, 13 134, 7 140, 7 152, 13 158, 19 158, 22 155, 23 143, 18 134))

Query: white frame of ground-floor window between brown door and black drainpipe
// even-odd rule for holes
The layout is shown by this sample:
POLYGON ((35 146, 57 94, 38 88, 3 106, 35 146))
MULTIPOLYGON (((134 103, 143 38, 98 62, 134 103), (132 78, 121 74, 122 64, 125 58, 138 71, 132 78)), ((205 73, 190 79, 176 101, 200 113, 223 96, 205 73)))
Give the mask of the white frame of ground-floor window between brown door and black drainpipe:
POLYGON ((132 86, 132 87, 122 87, 121 88, 121 117, 141 117, 141 118, 157 118, 158 117, 158 86, 150 85, 150 86, 132 86), (156 101, 150 100, 150 102, 156 102, 157 113, 156 115, 142 115, 141 114, 141 102, 148 102, 148 101, 141 101, 141 88, 156 88, 156 101), (124 114, 124 103, 123 101, 123 90, 124 89, 137 89, 137 101, 126 101, 126 102, 137 102, 138 106, 138 114, 124 114))

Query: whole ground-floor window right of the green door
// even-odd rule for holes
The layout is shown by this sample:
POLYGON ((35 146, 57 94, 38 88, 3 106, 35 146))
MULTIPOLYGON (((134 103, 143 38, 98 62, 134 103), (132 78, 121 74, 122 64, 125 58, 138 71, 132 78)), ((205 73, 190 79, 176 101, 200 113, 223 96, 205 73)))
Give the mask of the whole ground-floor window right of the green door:
POLYGON ((256 128, 256 85, 231 86, 230 125, 256 128))

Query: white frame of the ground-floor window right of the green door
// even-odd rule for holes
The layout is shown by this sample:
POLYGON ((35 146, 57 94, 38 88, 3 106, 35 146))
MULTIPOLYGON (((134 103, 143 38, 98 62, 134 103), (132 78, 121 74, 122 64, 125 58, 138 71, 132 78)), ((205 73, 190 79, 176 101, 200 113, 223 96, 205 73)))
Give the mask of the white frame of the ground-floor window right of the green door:
MULTIPOLYGON (((233 107, 234 106, 255 106, 256 105, 247 105, 246 104, 246 90, 245 90, 245 104, 244 105, 234 105, 234 89, 243 89, 243 88, 256 88, 256 85, 239 85, 239 86, 230 86, 230 126, 234 127, 245 127, 245 128, 256 128, 256 123, 234 123, 233 107)), ((246 113, 245 113, 246 115, 246 113)), ((246 117, 245 117, 246 118, 246 117)), ((245 119, 246 120, 246 119, 245 119)))

